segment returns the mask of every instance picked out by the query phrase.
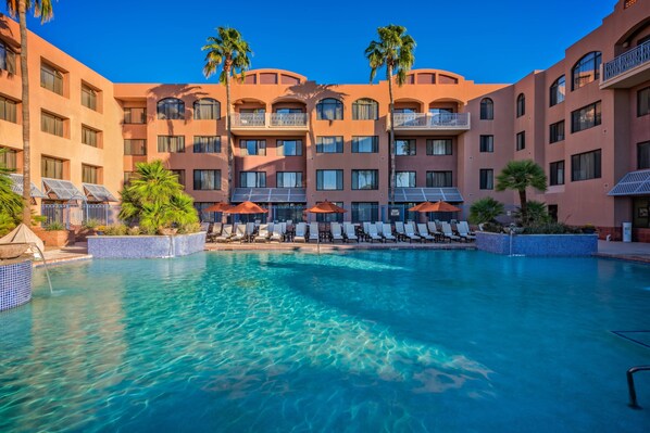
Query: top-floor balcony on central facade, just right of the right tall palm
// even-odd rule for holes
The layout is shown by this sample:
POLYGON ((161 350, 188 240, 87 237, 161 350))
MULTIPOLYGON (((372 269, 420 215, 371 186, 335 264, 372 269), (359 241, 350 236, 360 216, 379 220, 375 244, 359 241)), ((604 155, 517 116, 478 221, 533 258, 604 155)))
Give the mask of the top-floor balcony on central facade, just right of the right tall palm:
MULTIPOLYGON (((390 128, 390 122, 387 128, 390 128)), ((458 136, 468 130, 470 113, 395 113, 397 133, 458 136)))

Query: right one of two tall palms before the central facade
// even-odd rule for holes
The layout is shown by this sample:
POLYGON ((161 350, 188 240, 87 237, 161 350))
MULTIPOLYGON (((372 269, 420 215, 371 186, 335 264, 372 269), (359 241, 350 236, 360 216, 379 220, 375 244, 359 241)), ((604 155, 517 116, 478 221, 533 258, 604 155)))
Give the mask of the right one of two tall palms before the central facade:
POLYGON ((407 35, 407 28, 390 24, 377 28, 379 40, 373 40, 365 49, 365 56, 371 64, 371 82, 377 74, 377 69, 386 66, 386 79, 388 80, 388 95, 390 99, 390 206, 395 205, 395 106, 392 99, 392 76, 397 75, 397 85, 402 86, 407 80, 407 73, 413 66, 415 56, 415 40, 407 35))

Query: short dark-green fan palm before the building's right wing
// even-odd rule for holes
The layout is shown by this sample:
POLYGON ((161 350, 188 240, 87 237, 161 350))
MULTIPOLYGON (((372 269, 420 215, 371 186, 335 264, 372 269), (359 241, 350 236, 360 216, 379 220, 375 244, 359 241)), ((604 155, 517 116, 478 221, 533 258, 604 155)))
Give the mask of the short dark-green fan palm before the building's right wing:
POLYGON ((497 176, 497 191, 515 190, 520 193, 522 221, 528 221, 526 188, 541 192, 547 189, 547 177, 538 164, 532 160, 511 161, 497 176))

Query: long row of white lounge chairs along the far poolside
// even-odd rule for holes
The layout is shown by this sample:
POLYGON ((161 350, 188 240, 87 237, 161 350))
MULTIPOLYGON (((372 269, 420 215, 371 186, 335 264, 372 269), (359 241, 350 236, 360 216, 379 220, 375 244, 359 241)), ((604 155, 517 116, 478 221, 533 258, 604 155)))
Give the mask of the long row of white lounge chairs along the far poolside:
MULTIPOLYGON (((208 229, 205 229, 208 230, 208 229)), ((295 227, 286 222, 253 222, 222 225, 215 222, 208 230, 210 242, 470 242, 476 239, 466 221, 460 221, 452 229, 449 222, 427 224, 397 221, 395 227, 387 222, 332 222, 329 231, 321 231, 318 222, 298 222, 295 227)))

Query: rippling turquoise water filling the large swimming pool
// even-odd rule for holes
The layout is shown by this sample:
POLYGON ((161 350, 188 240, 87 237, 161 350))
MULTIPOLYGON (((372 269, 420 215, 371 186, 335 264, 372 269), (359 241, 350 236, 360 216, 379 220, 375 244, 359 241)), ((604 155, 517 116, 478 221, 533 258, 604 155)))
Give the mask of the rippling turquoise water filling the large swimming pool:
POLYGON ((650 428, 650 374, 643 410, 625 382, 650 348, 611 332, 650 330, 650 266, 238 252, 50 273, 0 314, 3 433, 650 428))

